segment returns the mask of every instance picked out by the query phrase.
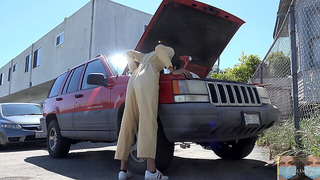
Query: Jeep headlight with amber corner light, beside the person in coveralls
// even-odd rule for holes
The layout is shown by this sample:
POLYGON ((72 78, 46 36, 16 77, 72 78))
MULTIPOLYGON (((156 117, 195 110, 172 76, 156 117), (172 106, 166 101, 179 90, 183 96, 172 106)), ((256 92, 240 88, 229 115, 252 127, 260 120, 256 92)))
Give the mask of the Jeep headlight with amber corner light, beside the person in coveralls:
POLYGON ((174 102, 209 102, 206 84, 202 80, 173 80, 174 102))

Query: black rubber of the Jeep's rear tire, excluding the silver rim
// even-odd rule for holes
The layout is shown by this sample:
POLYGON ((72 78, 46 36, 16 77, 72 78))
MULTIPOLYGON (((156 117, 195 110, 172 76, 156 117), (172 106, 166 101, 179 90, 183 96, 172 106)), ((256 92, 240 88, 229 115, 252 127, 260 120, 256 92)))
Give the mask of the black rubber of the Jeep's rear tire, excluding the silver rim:
POLYGON ((51 150, 49 145, 49 134, 46 136, 46 146, 48 149, 48 152, 51 157, 53 158, 62 158, 65 157, 70 150, 71 145, 71 139, 63 137, 60 133, 60 127, 56 120, 52 120, 49 123, 47 132, 50 133, 51 128, 54 127, 56 130, 56 146, 54 150, 51 150))

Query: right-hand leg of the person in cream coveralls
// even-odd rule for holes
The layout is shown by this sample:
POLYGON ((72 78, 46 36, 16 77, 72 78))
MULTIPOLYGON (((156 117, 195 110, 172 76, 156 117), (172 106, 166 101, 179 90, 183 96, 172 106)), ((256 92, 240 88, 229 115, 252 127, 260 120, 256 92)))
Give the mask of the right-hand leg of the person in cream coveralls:
POLYGON ((136 101, 139 107, 139 132, 137 157, 155 158, 157 135, 157 111, 159 73, 146 64, 134 81, 136 101))

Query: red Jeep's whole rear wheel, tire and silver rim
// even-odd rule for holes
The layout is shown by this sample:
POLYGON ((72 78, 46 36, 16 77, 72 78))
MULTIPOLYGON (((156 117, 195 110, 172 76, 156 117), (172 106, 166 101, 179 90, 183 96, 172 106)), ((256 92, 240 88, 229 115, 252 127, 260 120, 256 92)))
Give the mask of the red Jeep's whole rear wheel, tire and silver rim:
POLYGON ((71 140, 61 135, 56 120, 49 123, 47 132, 46 146, 50 156, 53 158, 65 157, 69 153, 71 140))

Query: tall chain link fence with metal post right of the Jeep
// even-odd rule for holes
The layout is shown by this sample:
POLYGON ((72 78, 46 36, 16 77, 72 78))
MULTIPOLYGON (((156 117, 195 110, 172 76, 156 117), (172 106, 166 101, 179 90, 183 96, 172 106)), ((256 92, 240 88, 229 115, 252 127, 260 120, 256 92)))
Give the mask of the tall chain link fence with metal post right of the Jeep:
MULTIPOLYGON (((320 129, 320 0, 294 0, 294 27, 297 65, 297 97, 300 124, 312 119, 320 129)), ((288 9, 289 10, 289 9, 288 9)), ((287 13, 269 51, 251 78, 266 86, 271 103, 279 109, 279 120, 270 130, 293 123, 293 85, 290 19, 287 13), (262 71, 262 72, 261 72, 262 71)), ((293 32, 294 33, 294 32, 293 32)), ((293 127, 292 127, 293 128, 293 127)), ((309 129, 305 124, 301 130, 309 129)), ((319 140, 319 139, 317 139, 319 140)))

